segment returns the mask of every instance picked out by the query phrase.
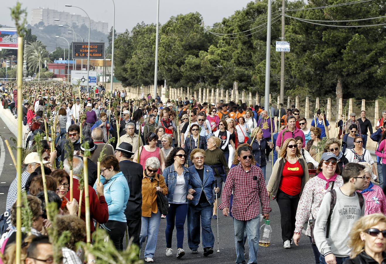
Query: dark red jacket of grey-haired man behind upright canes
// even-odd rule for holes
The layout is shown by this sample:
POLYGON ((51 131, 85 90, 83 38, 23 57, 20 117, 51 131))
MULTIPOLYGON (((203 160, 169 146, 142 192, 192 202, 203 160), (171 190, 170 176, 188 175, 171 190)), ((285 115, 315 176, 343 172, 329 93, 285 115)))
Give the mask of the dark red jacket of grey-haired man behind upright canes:
MULTIPOLYGON (((80 196, 80 191, 78 190, 79 187, 79 181, 75 177, 73 178, 73 183, 74 183, 74 190, 73 190, 73 196, 78 201, 79 203, 79 196, 80 196)), ((90 199, 90 230, 91 233, 94 232, 94 223, 92 219, 95 219, 98 221, 98 223, 104 224, 107 223, 108 220, 108 208, 107 208, 107 203, 105 200, 105 196, 97 196, 97 193, 91 187, 90 185, 88 186, 88 196, 90 199)), ((67 199, 70 199, 70 192, 67 192, 66 195, 67 199)), ((80 204, 80 203, 79 203, 80 204)), ((84 221, 86 221, 86 213, 85 213, 86 207, 85 207, 85 192, 83 191, 82 194, 82 208, 80 211, 80 218, 84 221)))

